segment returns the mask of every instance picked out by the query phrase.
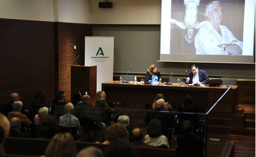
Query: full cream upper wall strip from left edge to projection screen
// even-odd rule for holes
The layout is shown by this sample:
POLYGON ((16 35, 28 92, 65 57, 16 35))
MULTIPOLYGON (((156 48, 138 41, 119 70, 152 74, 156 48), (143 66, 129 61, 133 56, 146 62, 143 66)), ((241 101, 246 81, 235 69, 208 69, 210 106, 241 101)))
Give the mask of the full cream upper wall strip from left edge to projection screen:
POLYGON ((85 24, 160 24, 161 0, 0 0, 0 18, 85 24))

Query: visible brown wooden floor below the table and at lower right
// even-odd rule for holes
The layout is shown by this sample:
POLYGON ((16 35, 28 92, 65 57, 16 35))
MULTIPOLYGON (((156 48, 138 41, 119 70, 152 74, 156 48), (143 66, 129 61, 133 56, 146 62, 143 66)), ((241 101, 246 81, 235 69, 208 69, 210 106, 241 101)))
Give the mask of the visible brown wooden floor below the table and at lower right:
MULTIPOLYGON (((255 104, 239 104, 239 109, 245 110, 245 113, 255 114, 255 104)), ((144 117, 146 111, 151 110, 145 108, 141 104, 114 104, 112 108, 119 111, 120 114, 129 115, 132 127, 141 127, 145 129, 144 117), (137 110, 135 112, 135 110, 137 110)), ((235 157, 255 157, 255 136, 247 135, 214 135, 219 138, 220 142, 211 142, 208 140, 207 157, 221 157, 220 153, 224 143, 222 141, 235 142, 235 157)))

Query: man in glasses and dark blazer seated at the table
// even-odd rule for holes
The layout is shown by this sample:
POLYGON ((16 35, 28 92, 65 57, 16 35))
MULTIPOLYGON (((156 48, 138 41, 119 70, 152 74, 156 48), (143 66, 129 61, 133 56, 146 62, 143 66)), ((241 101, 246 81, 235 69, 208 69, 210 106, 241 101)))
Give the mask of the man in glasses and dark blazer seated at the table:
POLYGON ((209 81, 206 71, 198 69, 197 64, 192 64, 185 84, 208 84, 209 81))

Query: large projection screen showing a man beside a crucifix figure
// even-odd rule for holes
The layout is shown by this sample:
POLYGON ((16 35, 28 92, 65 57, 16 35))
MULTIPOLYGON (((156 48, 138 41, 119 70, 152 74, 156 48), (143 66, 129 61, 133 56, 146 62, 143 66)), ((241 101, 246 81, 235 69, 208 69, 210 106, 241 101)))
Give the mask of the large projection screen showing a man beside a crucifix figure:
MULTIPOLYGON (((162 0, 159 61, 254 64, 255 0, 220 3, 221 8, 217 11, 221 13, 216 16, 221 20, 222 33, 211 29, 213 18, 210 17, 214 13, 204 15, 208 2, 162 0), (239 48, 229 51, 230 47, 226 47, 224 51, 223 44, 236 44, 239 48), (233 53, 236 50, 240 52, 233 53)), ((214 5, 217 4, 211 7, 214 5)))

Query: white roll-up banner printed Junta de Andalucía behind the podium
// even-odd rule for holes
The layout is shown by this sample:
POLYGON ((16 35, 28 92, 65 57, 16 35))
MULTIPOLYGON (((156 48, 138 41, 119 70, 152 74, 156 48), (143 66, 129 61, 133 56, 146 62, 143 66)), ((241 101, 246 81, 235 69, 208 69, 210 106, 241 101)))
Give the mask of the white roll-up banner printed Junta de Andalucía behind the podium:
POLYGON ((113 80, 114 37, 85 37, 85 66, 95 65, 97 91, 101 91, 103 82, 113 80))

